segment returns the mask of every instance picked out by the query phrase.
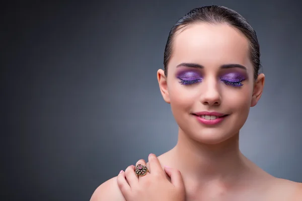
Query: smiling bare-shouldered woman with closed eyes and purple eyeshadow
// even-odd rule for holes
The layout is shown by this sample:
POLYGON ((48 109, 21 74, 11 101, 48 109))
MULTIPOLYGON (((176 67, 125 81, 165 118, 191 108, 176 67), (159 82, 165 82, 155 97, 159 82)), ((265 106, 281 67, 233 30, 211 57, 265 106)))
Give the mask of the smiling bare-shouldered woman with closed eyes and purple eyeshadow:
POLYGON ((256 33, 235 11, 209 6, 181 18, 157 73, 179 125, 177 145, 127 167, 91 200, 302 200, 301 183, 273 177, 239 150, 263 91, 259 68, 256 33))

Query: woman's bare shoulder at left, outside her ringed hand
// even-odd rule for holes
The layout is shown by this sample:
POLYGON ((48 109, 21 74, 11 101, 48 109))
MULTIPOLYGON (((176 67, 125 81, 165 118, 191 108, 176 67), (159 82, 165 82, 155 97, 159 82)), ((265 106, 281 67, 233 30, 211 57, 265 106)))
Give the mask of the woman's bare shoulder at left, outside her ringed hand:
POLYGON ((102 183, 92 194, 90 201, 126 201, 121 193, 116 177, 102 183))

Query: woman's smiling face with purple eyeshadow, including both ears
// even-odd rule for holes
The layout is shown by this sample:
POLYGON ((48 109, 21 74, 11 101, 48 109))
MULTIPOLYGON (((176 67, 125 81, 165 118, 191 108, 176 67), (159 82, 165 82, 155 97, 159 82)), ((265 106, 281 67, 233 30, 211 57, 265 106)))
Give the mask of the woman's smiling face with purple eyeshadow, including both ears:
POLYGON ((248 39, 231 26, 205 23, 174 36, 168 76, 163 76, 160 71, 161 90, 180 129, 207 144, 239 132, 264 83, 264 75, 254 81, 248 39))

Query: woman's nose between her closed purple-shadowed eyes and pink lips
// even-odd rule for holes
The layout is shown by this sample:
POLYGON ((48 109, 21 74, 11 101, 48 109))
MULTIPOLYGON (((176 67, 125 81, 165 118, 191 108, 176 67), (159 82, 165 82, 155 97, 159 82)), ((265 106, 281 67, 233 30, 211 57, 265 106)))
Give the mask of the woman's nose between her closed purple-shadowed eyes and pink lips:
POLYGON ((208 106, 218 106, 221 103, 221 95, 218 83, 214 78, 202 81, 200 103, 208 106))

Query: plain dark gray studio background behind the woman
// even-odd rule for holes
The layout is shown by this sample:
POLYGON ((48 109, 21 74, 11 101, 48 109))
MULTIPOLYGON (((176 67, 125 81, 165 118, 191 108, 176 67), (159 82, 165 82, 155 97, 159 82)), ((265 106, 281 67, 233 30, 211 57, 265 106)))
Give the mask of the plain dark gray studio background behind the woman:
POLYGON ((299 1, 10 3, 2 7, 3 200, 89 200, 121 169, 177 142, 156 72, 174 23, 222 5, 258 34, 264 93, 242 152, 302 182, 299 1))

